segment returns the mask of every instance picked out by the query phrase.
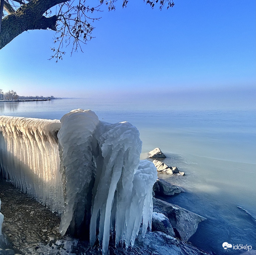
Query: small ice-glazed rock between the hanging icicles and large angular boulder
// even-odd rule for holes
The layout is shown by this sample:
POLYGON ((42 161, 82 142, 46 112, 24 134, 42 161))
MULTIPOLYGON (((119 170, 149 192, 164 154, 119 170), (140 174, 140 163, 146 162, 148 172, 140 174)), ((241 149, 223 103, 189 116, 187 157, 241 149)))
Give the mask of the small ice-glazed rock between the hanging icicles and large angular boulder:
POLYGON ((169 219, 162 213, 153 212, 152 214, 152 231, 161 231, 172 237, 175 236, 169 219))

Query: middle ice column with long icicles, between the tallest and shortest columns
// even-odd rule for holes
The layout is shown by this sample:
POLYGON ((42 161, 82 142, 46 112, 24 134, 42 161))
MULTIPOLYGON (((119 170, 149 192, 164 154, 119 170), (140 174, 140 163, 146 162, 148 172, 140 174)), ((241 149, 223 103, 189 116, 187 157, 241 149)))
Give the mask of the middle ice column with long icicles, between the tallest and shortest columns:
POLYGON ((95 136, 100 152, 96 157, 97 172, 93 188, 90 243, 93 245, 96 240, 99 218, 98 239, 102 242, 103 254, 106 254, 110 226, 112 229, 115 228, 117 242, 123 239, 125 212, 131 200, 132 181, 139 164, 142 142, 138 129, 128 122, 101 122, 95 136), (111 212, 115 213, 115 227, 111 212))

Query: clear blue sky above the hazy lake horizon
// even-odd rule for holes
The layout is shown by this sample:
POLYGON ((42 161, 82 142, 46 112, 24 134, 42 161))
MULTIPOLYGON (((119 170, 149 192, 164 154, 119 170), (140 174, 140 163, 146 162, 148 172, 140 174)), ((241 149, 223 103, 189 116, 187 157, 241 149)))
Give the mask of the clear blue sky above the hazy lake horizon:
POLYGON ((100 13, 84 53, 70 57, 66 48, 58 63, 48 60, 53 31, 24 32, 0 50, 0 88, 56 97, 238 91, 254 98, 255 1, 174 3, 160 11, 117 1, 115 11, 100 13))

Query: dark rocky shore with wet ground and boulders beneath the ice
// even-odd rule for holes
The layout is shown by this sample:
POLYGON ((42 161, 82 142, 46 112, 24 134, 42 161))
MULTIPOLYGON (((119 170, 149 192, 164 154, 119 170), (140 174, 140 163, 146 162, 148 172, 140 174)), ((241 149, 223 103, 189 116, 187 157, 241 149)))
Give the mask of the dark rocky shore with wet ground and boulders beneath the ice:
MULTIPOLYGON (((158 179, 153 187, 152 232, 146 233, 145 238, 139 233, 133 248, 115 247, 110 242, 108 254, 208 254, 187 243, 205 218, 158 199, 180 192, 184 190, 158 179)), ((4 214, 0 255, 101 254, 100 246, 90 247, 87 240, 68 235, 61 238, 60 216, 3 179, 0 179, 0 197, 4 214)))

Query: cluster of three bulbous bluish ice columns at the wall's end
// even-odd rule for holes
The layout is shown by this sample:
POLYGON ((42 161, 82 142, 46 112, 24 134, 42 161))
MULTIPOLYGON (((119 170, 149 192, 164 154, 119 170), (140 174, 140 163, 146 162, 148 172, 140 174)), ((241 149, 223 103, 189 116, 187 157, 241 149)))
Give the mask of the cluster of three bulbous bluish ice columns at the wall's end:
POLYGON ((90 244, 98 239, 103 254, 110 232, 115 233, 116 245, 133 245, 142 219, 143 236, 151 228, 152 188, 157 179, 153 163, 139 160, 138 130, 128 122, 101 122, 94 112, 81 109, 64 115, 60 122, 60 171, 67 194, 62 235, 68 228, 77 231, 87 221, 90 244))

